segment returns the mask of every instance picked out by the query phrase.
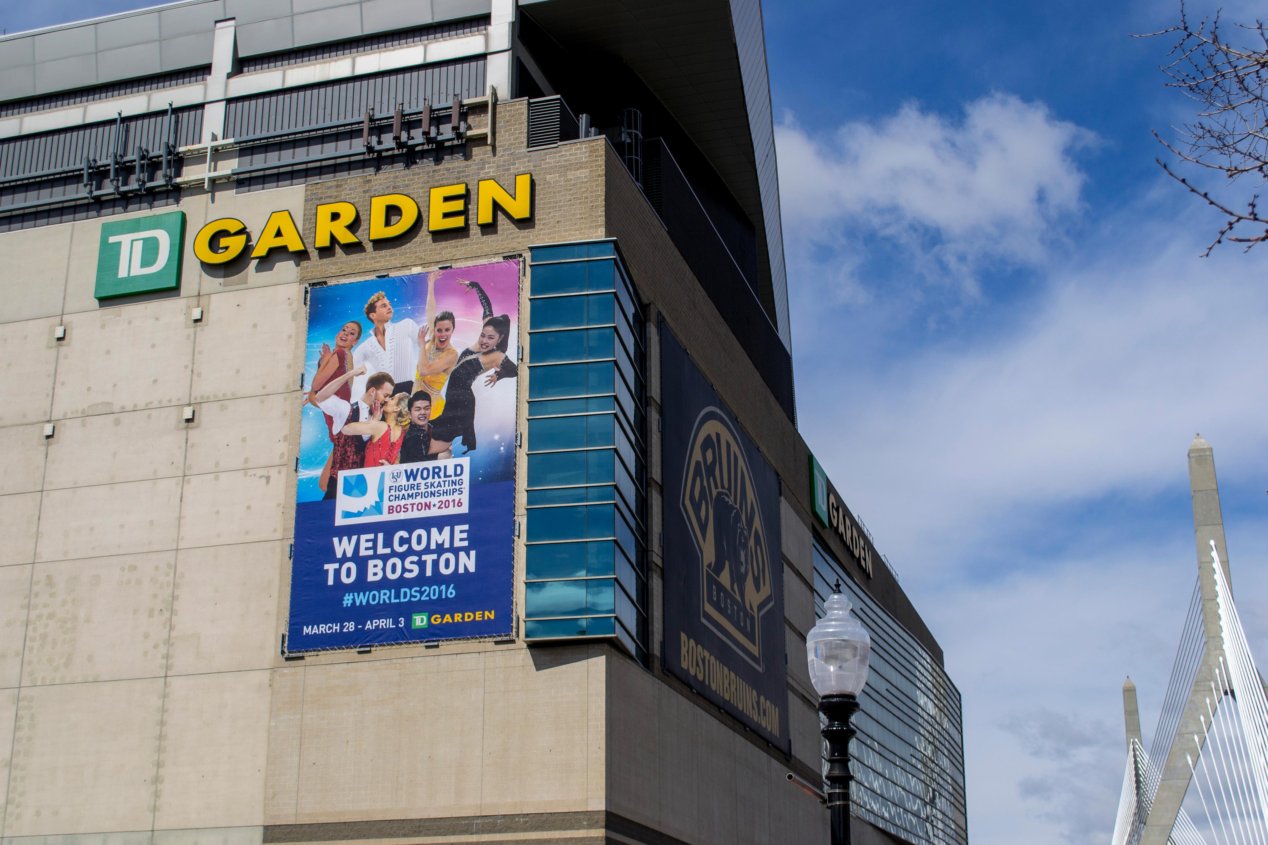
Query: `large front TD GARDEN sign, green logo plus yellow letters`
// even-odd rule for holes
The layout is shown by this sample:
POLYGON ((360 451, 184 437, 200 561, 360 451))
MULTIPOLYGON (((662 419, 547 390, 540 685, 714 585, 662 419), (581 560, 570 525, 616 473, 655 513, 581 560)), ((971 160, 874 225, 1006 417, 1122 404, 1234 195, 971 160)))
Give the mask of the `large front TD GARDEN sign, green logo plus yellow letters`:
MULTIPOLYGON (((467 228, 470 212, 478 226, 492 226, 501 210, 512 220, 533 217, 533 175, 520 174, 510 189, 495 179, 482 179, 474 190, 467 182, 440 185, 420 203, 407 194, 372 196, 368 208, 353 203, 323 203, 313 213, 317 250, 404 237, 425 220, 429 232, 467 228)), ((194 257, 204 265, 223 265, 243 253, 249 260, 275 252, 307 252, 309 245, 289 209, 269 214, 261 224, 222 217, 203 226, 193 242, 194 257), (250 253, 247 253, 250 247, 250 253)), ((96 299, 172 290, 180 286, 185 250, 185 213, 169 212, 101 224, 96 260, 96 299)), ((321 253, 318 252, 318 257, 321 253)))

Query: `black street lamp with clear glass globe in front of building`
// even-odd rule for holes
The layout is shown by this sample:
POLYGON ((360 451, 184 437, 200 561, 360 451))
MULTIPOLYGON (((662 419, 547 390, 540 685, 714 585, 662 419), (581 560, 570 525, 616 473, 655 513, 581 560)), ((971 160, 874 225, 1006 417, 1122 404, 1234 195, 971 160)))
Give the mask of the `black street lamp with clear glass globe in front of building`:
POLYGON ((828 745, 828 810, 832 812, 832 845, 850 845, 850 720, 858 712, 858 693, 867 683, 871 637, 850 616, 850 599, 837 592, 823 603, 823 618, 805 637, 810 683, 819 693, 819 712, 827 720, 823 740, 828 745))

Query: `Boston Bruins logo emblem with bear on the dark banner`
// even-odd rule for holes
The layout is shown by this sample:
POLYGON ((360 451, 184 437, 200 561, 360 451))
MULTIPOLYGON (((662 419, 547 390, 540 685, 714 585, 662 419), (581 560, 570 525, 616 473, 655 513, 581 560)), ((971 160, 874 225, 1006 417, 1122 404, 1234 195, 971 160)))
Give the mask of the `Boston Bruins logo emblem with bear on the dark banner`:
POLYGON ((700 618, 761 671, 761 621, 773 604, 766 530, 739 435, 718 408, 696 418, 680 504, 700 555, 700 618))

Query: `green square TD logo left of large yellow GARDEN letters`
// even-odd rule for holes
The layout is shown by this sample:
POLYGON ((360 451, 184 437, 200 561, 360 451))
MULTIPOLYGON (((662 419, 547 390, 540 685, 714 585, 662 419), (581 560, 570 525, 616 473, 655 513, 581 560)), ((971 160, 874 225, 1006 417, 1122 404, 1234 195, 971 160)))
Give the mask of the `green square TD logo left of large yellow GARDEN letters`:
POLYGON ((180 288, 185 213, 108 220, 96 251, 94 296, 127 296, 180 288))

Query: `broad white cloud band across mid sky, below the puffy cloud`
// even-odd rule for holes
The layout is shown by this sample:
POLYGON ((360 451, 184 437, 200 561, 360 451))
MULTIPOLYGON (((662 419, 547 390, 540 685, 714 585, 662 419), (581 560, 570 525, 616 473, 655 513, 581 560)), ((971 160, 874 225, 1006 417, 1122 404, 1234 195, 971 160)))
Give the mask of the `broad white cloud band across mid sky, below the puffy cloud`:
POLYGON ((1194 245, 1066 265, 1012 324, 853 369, 847 394, 815 395, 827 413, 804 416, 803 435, 850 466, 843 493, 872 531, 904 538, 904 570, 932 575, 931 542, 980 541, 1033 508, 1183 484, 1194 431, 1259 465, 1268 298, 1246 275, 1264 262, 1203 262, 1194 245))

